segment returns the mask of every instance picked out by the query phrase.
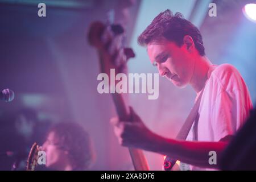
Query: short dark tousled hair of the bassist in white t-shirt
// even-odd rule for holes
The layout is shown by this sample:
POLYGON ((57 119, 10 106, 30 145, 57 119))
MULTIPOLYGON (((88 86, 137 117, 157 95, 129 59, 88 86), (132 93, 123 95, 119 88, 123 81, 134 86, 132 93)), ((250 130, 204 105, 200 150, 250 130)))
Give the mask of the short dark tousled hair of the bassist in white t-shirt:
POLYGON ((159 43, 163 38, 173 41, 177 46, 183 45, 185 35, 192 37, 195 47, 201 56, 205 55, 203 38, 198 28, 183 18, 181 13, 172 14, 166 10, 154 18, 151 24, 138 37, 138 44, 159 43))

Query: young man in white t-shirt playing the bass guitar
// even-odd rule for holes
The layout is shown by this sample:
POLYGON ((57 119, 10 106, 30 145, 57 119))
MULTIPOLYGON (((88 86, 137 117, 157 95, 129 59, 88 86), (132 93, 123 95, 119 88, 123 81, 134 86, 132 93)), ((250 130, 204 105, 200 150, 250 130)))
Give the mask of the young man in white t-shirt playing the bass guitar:
POLYGON ((133 122, 112 118, 119 143, 171 156, 191 164, 192 170, 218 168, 222 151, 253 107, 240 73, 230 64, 213 65, 205 56, 198 28, 170 10, 156 16, 138 37, 138 43, 146 47, 161 76, 179 88, 191 85, 196 100, 203 94, 187 141, 153 133, 131 109, 133 122), (217 164, 209 163, 209 151, 216 152, 217 164))

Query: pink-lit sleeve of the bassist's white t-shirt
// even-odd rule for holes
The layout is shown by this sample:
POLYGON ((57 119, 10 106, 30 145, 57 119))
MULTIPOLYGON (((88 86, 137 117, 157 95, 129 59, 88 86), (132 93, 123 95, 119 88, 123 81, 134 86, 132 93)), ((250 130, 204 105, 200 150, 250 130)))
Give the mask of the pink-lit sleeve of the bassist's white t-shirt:
POLYGON ((223 65, 214 76, 218 94, 212 106, 211 125, 214 141, 219 141, 240 129, 249 116, 252 104, 247 86, 236 68, 223 65))

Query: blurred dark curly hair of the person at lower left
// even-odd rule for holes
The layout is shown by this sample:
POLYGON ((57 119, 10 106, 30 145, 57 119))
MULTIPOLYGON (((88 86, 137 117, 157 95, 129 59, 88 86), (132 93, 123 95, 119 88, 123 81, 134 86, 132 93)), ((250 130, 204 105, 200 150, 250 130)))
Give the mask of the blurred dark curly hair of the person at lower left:
POLYGON ((74 170, 84 170, 94 161, 92 142, 84 127, 75 122, 60 122, 49 129, 53 132, 59 146, 69 153, 74 170))

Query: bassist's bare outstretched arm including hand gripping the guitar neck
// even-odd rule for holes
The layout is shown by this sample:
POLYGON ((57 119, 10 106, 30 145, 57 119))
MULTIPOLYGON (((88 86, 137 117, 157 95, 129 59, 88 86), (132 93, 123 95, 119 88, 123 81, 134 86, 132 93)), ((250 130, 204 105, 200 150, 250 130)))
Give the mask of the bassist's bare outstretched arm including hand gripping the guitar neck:
POLYGON ((193 166, 218 168, 221 154, 231 139, 230 135, 222 138, 219 142, 188 142, 167 139, 147 129, 133 109, 131 109, 130 114, 133 122, 119 121, 118 118, 112 118, 115 135, 117 135, 122 146, 141 148, 142 150, 168 155, 193 166), (209 164, 210 151, 216 152, 216 165, 209 164))

